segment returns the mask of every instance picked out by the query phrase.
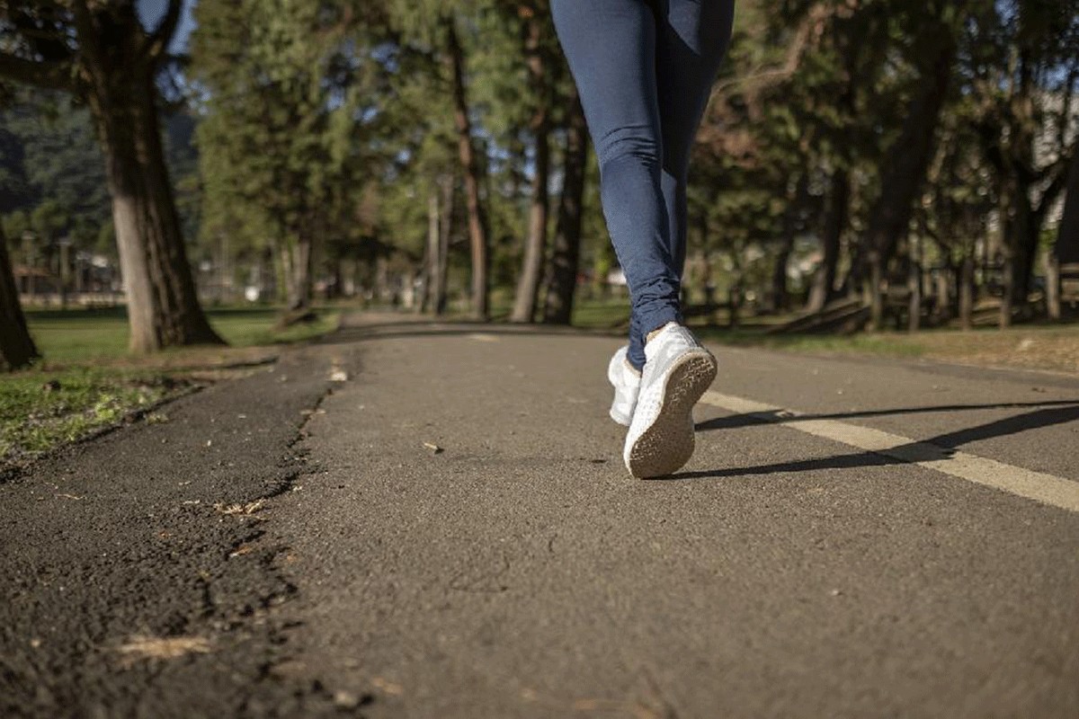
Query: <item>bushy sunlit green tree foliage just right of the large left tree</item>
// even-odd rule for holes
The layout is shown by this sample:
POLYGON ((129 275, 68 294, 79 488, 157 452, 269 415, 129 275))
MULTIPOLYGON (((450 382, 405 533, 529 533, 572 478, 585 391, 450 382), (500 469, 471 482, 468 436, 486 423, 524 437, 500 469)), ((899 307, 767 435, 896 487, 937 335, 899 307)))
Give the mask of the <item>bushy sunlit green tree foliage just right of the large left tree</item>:
POLYGON ((344 2, 205 3, 197 19, 204 241, 340 251, 370 235, 365 190, 391 151, 378 151, 388 88, 375 88, 392 53, 363 43, 344 2))

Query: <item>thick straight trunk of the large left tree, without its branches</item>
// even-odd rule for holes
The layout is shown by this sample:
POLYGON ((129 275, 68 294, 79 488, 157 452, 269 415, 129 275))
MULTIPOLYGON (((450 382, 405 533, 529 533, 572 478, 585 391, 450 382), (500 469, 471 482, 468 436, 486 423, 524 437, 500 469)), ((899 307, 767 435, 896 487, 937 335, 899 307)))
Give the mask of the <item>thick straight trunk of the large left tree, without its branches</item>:
POLYGON ((112 196, 129 348, 148 352, 174 345, 222 344, 199 305, 162 150, 154 66, 133 46, 137 38, 123 30, 103 30, 94 38, 80 34, 83 52, 97 58, 87 65, 86 99, 112 196))

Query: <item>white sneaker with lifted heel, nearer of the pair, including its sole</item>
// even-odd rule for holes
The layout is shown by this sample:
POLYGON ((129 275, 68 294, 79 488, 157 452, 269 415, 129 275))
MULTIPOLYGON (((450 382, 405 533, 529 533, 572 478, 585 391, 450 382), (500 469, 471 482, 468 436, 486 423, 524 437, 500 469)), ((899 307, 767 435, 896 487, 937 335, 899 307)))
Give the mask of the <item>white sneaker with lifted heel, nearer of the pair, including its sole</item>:
POLYGON ((633 476, 664 476, 693 456, 693 405, 712 384, 718 368, 693 333, 674 322, 644 345, 644 356, 623 459, 633 476))

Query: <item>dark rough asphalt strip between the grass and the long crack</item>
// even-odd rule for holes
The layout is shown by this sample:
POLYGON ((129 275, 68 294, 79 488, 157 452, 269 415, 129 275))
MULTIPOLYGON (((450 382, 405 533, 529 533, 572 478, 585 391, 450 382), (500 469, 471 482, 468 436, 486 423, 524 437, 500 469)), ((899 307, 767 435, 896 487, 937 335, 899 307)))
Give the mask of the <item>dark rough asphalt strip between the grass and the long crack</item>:
POLYGON ((297 445, 332 392, 325 359, 287 354, 174 400, 168 423, 110 428, 0 484, 0 716, 366 706, 342 707, 317 679, 279 670, 298 627, 275 609, 298 590, 268 520, 314 471, 297 445), (218 509, 236 504, 257 509, 218 509))

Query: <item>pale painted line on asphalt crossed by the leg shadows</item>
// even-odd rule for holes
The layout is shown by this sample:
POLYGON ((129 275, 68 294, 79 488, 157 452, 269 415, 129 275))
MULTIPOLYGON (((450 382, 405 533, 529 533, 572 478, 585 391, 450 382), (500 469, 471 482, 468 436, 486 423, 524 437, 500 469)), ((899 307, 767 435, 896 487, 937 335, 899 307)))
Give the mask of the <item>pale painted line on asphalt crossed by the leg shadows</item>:
POLYGON ((791 410, 712 390, 705 392, 700 401, 727 412, 755 415, 761 419, 778 423, 814 437, 925 467, 1051 507, 1079 512, 1079 482, 966 452, 941 448, 928 442, 918 442, 878 429, 848 425, 834 419, 801 419, 798 413, 791 410))

